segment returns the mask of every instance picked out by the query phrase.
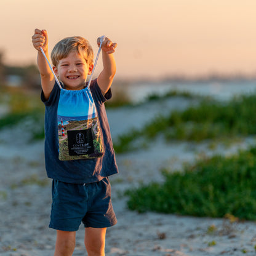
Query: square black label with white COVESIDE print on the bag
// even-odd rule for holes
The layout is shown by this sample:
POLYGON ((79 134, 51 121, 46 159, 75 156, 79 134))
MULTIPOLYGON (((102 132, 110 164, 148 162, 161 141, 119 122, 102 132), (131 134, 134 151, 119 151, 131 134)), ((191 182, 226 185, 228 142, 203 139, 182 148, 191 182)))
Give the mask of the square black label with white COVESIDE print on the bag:
POLYGON ((92 129, 68 130, 68 152, 70 156, 94 153, 92 129))

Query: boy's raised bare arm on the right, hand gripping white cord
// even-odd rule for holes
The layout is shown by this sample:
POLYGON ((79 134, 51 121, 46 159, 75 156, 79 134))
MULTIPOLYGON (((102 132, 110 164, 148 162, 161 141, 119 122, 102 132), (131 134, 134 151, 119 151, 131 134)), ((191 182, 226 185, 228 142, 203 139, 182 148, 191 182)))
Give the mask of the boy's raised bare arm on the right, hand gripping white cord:
MULTIPOLYGON (((100 45, 100 39, 97 39, 98 46, 100 45)), ((102 90, 102 94, 105 95, 114 79, 114 74, 116 74, 116 62, 114 60, 114 51, 118 44, 116 42, 111 42, 110 39, 105 38, 102 43, 102 61, 103 70, 99 74, 97 82, 98 86, 102 90)))

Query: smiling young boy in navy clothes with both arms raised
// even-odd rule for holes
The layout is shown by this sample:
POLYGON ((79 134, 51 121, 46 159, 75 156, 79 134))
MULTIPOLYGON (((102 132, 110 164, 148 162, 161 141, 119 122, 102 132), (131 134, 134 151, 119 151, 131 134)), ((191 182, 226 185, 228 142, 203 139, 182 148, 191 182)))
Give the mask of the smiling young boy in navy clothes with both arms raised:
MULTIPOLYGON (((108 176, 118 173, 106 118, 104 102, 111 98, 111 83, 116 72, 113 53, 117 44, 105 38, 102 44, 103 70, 90 84, 90 91, 103 136, 105 152, 101 158, 60 161, 58 159, 57 108, 60 88, 55 82, 46 59, 48 36, 46 30, 34 30, 33 46, 38 50, 38 68, 41 74, 41 99, 46 106, 45 158, 47 176, 52 178, 52 210, 50 228, 57 230, 54 256, 73 254, 76 231, 81 222, 85 226, 84 244, 89 256, 105 255, 105 234, 108 226, 116 224, 111 204, 108 176)), ((98 45, 100 41, 97 41, 98 45)), ((79 36, 58 42, 51 54, 53 70, 66 90, 81 90, 87 74, 92 73, 93 52, 89 42, 79 36)))

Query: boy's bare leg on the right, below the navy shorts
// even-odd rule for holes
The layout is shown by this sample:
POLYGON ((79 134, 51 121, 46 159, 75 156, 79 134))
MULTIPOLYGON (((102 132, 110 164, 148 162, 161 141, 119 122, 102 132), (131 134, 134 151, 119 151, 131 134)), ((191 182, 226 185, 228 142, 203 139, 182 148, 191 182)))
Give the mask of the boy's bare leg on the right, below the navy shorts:
POLYGON ((84 244, 88 256, 105 256, 106 228, 86 228, 84 244))

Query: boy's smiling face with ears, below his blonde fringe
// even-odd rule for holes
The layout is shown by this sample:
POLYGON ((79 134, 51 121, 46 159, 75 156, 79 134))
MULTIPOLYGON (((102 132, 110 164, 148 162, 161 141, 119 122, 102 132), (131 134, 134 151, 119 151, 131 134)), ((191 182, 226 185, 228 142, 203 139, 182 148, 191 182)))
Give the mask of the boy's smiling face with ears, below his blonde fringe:
POLYGON ((56 76, 63 82, 66 90, 81 90, 86 83, 87 74, 92 73, 94 65, 88 65, 77 52, 70 52, 54 66, 56 76))

